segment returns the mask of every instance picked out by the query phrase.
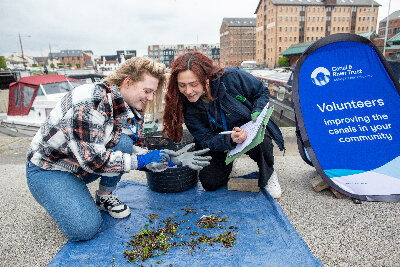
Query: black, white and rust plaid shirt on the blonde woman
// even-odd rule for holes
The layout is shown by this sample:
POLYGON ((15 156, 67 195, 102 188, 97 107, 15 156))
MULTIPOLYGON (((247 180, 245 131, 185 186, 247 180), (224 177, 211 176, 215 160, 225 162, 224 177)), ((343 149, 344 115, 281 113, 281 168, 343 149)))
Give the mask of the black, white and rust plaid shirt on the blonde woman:
POLYGON ((129 172, 131 155, 109 148, 118 143, 123 131, 130 133, 125 122, 132 121, 134 112, 142 119, 116 86, 79 86, 50 112, 32 140, 27 159, 43 169, 68 171, 78 177, 129 172))

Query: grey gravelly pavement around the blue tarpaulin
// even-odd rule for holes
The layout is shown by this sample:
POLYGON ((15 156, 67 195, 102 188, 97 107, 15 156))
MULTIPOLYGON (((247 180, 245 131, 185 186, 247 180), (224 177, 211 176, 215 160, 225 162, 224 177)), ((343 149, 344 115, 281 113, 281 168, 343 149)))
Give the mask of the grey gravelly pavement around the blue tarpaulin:
MULTIPOLYGON (((297 152, 294 128, 282 128, 288 150, 275 151, 275 169, 284 190, 278 200, 285 215, 324 266, 400 266, 400 203, 362 202, 314 192, 314 168, 297 152)), ((0 266, 45 266, 67 239, 26 185, 25 152, 30 138, 0 137, 0 266)), ((246 156, 233 175, 256 170, 246 156)), ((146 182, 134 171, 122 179, 146 182)), ((98 182, 89 185, 94 193, 98 182)))

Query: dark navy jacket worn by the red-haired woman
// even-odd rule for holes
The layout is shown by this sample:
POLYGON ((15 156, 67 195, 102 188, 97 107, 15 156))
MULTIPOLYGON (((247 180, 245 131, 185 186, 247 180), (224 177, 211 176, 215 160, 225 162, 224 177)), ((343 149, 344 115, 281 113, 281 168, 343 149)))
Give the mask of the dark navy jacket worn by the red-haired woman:
MULTIPOLYGON (((226 130, 240 127, 251 120, 251 114, 260 111, 269 101, 269 90, 261 81, 237 67, 225 68, 225 72, 217 80, 210 80, 211 95, 215 101, 209 104, 200 99, 191 103, 184 102, 183 115, 186 127, 194 139, 211 151, 227 151, 236 144, 231 142, 230 135, 219 135, 224 131, 211 120, 211 115, 218 125, 222 125, 220 110, 226 118, 226 130)), ((284 149, 282 133, 271 118, 267 130, 280 150, 284 149)))

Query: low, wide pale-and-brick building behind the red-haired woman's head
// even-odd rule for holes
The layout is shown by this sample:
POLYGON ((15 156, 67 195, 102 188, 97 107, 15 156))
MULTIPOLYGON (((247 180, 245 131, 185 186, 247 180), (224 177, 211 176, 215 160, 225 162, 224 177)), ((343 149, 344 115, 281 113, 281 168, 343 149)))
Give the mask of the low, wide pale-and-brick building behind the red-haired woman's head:
POLYGON ((149 45, 147 47, 148 57, 164 63, 166 67, 170 67, 175 58, 190 51, 199 51, 215 61, 220 60, 219 44, 149 45))

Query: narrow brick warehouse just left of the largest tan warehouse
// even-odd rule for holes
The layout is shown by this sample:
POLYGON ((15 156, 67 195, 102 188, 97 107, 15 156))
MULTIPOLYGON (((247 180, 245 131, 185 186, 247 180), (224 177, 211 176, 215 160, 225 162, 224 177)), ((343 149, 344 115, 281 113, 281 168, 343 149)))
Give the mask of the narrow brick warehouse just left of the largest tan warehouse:
POLYGON ((224 66, 240 66, 243 61, 255 60, 255 18, 223 18, 219 33, 224 66))

